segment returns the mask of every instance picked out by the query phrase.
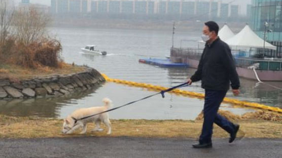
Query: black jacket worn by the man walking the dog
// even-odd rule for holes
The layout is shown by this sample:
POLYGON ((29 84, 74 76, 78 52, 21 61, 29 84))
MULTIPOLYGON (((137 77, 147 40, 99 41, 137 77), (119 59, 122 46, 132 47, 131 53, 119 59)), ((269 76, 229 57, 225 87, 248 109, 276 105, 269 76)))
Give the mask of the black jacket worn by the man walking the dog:
POLYGON ((231 50, 219 37, 210 46, 205 44, 198 69, 191 80, 202 80, 202 88, 207 90, 228 90, 230 81, 232 89, 240 87, 231 50))

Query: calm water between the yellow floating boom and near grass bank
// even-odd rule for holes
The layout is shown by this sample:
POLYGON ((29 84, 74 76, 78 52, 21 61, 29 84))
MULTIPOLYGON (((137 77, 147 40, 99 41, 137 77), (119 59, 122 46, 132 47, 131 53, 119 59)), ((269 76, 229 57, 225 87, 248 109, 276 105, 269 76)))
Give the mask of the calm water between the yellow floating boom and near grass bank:
MULTIPOLYGON (((109 97, 113 100, 113 107, 152 95, 156 92, 143 88, 105 83, 101 87, 68 97, 48 99, 13 100, 0 103, 0 113, 17 116, 41 116, 65 118, 75 109, 101 106, 102 98, 109 97), (95 91, 95 92, 94 92, 95 91)), ((191 120, 202 110, 203 100, 188 98, 174 94, 165 94, 165 98, 157 95, 142 100, 129 106, 110 112, 111 119, 184 119, 191 120)), ((221 109, 242 114, 251 109, 232 108, 223 104, 221 109)))

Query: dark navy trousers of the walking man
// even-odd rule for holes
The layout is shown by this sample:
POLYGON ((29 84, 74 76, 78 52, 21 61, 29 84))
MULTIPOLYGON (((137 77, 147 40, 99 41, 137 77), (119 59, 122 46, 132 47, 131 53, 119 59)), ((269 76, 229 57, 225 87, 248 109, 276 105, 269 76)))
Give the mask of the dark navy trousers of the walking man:
POLYGON ((228 133, 234 132, 234 124, 229 122, 225 117, 218 114, 218 109, 225 97, 227 91, 205 90, 204 98, 204 122, 202 133, 200 135, 200 143, 211 142, 213 135, 213 124, 216 123, 228 133))

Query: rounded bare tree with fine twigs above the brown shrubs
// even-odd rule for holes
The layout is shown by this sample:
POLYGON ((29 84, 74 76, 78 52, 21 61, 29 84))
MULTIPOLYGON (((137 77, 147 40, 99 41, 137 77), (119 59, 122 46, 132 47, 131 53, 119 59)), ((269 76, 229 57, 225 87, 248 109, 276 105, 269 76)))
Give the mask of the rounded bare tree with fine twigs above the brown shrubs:
POLYGON ((13 18, 14 35, 27 46, 47 36, 46 26, 49 22, 50 17, 33 6, 19 8, 13 18))

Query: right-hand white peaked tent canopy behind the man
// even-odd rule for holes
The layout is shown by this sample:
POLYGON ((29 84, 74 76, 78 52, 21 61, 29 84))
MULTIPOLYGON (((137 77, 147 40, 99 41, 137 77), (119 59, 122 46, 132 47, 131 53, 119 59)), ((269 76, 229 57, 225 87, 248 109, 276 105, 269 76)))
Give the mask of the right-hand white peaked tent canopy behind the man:
MULTIPOLYGON (((263 48, 264 41, 260 38, 247 24, 238 34, 225 41, 229 46, 247 47, 247 48, 263 48)), ((273 46, 265 42, 265 48, 276 50, 273 46)))

